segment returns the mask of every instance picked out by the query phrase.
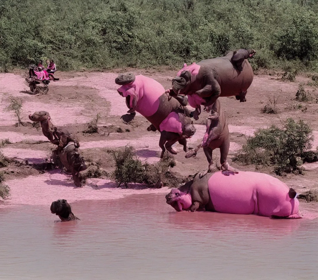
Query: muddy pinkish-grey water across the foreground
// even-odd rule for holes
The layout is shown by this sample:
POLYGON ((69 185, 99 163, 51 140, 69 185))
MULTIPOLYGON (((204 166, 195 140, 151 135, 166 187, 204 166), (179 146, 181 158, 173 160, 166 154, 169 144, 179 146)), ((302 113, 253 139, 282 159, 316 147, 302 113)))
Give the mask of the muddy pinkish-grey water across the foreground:
MULTIPOLYGON (((35 202, 36 204, 36 202, 35 202)), ((318 219, 177 213, 164 195, 0 209, 0 279, 317 279, 318 219)))

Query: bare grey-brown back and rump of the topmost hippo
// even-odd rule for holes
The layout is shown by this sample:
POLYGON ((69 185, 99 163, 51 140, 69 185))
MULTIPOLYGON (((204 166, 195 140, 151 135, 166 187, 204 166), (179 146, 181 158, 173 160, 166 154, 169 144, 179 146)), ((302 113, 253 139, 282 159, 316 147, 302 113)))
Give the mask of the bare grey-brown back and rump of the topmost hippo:
MULTIPOLYGON (((243 70, 238 71, 231 63, 231 57, 233 52, 227 54, 225 57, 216 57, 211 59, 205 59, 197 63, 201 66, 200 73, 210 72, 211 69, 216 74, 215 77, 221 87, 221 96, 233 96, 240 92, 246 91, 253 81, 253 70, 245 59, 243 63, 243 70)), ((201 74, 202 75, 202 74, 201 74)))

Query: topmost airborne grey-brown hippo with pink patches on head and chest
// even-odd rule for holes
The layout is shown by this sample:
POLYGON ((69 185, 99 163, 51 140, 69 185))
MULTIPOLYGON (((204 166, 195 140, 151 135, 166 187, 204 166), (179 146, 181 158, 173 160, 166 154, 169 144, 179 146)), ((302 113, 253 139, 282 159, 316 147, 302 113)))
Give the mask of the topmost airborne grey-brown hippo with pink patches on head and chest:
POLYGON ((201 105, 211 106, 218 97, 235 96, 245 102, 247 89, 253 81, 253 70, 246 59, 241 71, 235 69, 232 56, 233 51, 224 57, 205 59, 189 66, 184 63, 172 79, 172 88, 166 91, 169 98, 187 95, 189 104, 196 108, 196 119, 201 105))

